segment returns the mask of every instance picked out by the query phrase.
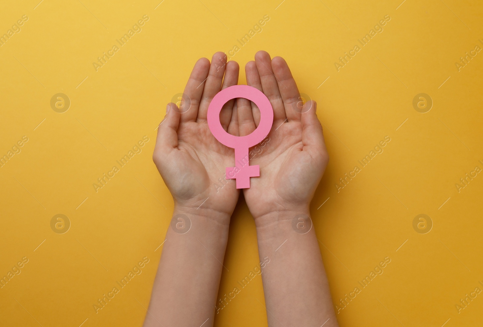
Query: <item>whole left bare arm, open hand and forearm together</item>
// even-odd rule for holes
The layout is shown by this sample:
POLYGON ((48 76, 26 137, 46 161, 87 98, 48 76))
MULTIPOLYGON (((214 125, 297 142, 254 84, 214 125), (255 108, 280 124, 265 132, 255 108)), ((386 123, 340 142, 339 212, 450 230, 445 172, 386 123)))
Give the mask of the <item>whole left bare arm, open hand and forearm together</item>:
MULTIPOLYGON (((213 326, 229 220, 240 194, 234 180, 216 187, 234 153, 216 141, 206 120, 213 96, 238 82, 238 64, 226 60, 220 52, 211 64, 199 59, 180 107, 168 104, 158 127, 153 160, 173 196, 174 212, 145 327, 213 326)), ((233 104, 223 107, 220 121, 237 130, 233 104)))

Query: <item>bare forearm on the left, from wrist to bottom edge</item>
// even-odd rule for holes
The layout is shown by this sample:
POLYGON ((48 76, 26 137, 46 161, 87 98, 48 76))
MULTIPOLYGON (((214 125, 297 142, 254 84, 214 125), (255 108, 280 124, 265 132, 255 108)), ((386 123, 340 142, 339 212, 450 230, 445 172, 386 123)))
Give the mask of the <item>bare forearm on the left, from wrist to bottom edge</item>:
POLYGON ((230 217, 203 208, 175 207, 144 327, 213 326, 230 217), (178 224, 178 228, 175 226, 178 224), (183 234, 181 234, 183 233, 183 234))

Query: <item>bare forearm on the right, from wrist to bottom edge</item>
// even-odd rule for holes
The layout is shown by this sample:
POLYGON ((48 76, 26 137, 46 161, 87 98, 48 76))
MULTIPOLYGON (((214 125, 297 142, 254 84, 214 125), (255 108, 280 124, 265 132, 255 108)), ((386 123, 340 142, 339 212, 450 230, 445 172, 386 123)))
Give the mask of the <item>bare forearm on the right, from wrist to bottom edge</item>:
POLYGON ((310 216, 303 209, 256 219, 260 261, 270 258, 262 273, 269 326, 338 326, 315 231, 293 222, 299 214, 310 216))

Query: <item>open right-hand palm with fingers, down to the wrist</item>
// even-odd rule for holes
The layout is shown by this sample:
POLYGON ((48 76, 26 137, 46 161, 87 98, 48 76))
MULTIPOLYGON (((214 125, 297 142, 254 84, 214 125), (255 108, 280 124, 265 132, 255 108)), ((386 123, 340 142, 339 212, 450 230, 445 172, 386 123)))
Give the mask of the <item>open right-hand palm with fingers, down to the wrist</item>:
MULTIPOLYGON (((247 84, 262 91, 273 107, 270 140, 250 160, 260 165, 260 177, 251 178, 250 188, 243 190, 248 208, 257 225, 264 221, 260 217, 270 217, 266 223, 271 223, 281 211, 308 214, 328 161, 317 104, 308 101, 302 107, 297 84, 281 57, 270 59, 267 52, 259 51, 255 61, 246 64, 245 73, 247 84)), ((237 99, 237 107, 240 135, 252 133, 260 111, 246 99, 237 99)))

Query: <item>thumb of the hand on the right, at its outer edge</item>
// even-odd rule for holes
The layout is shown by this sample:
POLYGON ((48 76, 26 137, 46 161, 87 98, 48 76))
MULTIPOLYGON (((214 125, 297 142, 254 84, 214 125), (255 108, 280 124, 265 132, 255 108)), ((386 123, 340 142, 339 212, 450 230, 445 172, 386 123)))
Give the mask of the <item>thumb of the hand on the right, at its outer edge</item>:
POLYGON ((327 157, 327 150, 324 142, 324 134, 322 133, 322 125, 315 113, 316 108, 317 103, 315 101, 307 101, 304 104, 304 112, 305 110, 307 112, 301 115, 302 117, 300 119, 302 123, 302 150, 308 151, 313 159, 322 160, 324 156, 327 157))

